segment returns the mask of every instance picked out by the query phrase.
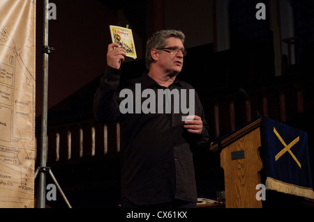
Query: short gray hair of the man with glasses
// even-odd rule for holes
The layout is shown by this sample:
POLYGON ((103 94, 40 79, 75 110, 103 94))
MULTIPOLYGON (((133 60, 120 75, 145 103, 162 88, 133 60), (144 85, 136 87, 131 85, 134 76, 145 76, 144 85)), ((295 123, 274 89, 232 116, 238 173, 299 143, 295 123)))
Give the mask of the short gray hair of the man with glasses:
POLYGON ((151 37, 147 40, 146 44, 146 53, 145 53, 145 61, 146 61, 146 68, 149 70, 151 67, 151 63, 154 61, 153 58, 151 58, 151 49, 162 49, 166 46, 167 38, 174 37, 179 38, 182 41, 182 44, 184 44, 184 40, 186 36, 182 31, 174 30, 174 29, 166 29, 157 31, 151 37))

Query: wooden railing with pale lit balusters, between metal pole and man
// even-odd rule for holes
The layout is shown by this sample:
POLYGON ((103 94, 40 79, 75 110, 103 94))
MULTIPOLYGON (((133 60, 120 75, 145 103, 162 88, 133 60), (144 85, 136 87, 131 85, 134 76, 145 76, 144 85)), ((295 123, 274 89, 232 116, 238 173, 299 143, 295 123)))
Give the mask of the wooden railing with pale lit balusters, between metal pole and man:
POLYGON ((47 162, 50 163, 89 159, 119 151, 119 123, 102 124, 87 120, 48 128, 47 162))

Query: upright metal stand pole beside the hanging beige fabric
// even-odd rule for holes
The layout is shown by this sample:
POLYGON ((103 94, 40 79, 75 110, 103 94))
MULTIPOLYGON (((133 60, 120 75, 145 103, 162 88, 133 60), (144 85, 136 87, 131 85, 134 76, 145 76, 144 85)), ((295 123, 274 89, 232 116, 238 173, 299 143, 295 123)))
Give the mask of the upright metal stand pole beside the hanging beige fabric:
MULTIPOLYGON (((43 28, 43 45, 48 46, 48 5, 49 1, 44 3, 44 28, 43 28)), ((41 134, 40 134, 40 167, 45 168, 47 164, 47 99, 48 99, 48 53, 43 51, 43 109, 41 114, 41 134)), ((46 191, 46 172, 39 172, 38 181, 38 203, 37 207, 45 208, 45 191, 46 191)))

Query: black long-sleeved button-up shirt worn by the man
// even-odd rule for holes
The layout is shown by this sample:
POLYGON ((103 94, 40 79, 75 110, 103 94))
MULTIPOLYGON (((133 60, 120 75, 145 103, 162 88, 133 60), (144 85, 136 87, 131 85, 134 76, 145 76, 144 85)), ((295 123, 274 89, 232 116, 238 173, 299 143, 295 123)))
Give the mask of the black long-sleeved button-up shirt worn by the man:
MULTIPOLYGON (((181 113, 181 109, 179 112, 174 110, 173 96, 164 97, 164 105, 166 100, 171 101, 170 113, 166 109, 162 113, 158 112, 156 104, 156 112, 139 113, 137 106, 137 111, 133 107, 133 113, 122 114, 119 104, 126 100, 126 97, 119 95, 122 89, 128 88, 133 92, 135 104, 139 95, 135 84, 140 84, 137 85, 137 89, 138 86, 142 91, 149 88, 154 90, 156 95, 158 89, 166 88, 157 84, 147 74, 128 81, 126 86, 121 86, 120 74, 121 70, 108 67, 105 75, 101 77, 100 86, 94 97, 94 115, 102 122, 120 121, 121 196, 136 205, 166 203, 173 201, 174 198, 196 202, 193 150, 209 148, 208 126, 197 93, 195 115, 200 116, 203 122, 200 135, 186 131, 184 121, 181 119, 181 116, 186 114, 181 113)), ((168 89, 178 89, 181 95, 181 89, 193 88, 186 82, 176 79, 168 89)), ((143 103, 147 98, 142 97, 140 102, 143 103)))

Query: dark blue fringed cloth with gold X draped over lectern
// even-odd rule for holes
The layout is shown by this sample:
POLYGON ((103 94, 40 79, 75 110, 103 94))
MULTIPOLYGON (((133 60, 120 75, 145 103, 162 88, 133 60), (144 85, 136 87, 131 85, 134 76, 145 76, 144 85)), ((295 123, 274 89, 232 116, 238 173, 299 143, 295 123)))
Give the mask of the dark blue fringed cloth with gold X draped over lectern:
POLYGON ((261 129, 267 189, 314 198, 308 134, 264 117, 261 129))

